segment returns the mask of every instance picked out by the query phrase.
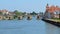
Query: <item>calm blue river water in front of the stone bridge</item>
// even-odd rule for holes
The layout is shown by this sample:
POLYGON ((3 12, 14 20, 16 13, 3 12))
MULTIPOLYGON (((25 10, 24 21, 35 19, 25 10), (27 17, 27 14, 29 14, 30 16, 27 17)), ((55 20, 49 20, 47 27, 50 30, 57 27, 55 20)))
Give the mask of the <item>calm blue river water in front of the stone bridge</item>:
POLYGON ((0 20, 0 34, 60 34, 60 28, 42 20, 0 20))

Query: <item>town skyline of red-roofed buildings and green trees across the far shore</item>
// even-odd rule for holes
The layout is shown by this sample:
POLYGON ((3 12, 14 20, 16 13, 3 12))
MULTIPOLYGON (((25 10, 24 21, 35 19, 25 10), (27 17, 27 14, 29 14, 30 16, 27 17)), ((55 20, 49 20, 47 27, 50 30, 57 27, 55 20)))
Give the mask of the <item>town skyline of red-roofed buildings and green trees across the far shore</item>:
MULTIPOLYGON (((60 19, 60 7, 59 6, 49 6, 48 4, 46 5, 46 11, 45 13, 40 12, 40 13, 36 13, 36 12, 32 12, 32 13, 26 13, 26 12, 20 12, 18 10, 14 10, 13 12, 8 11, 6 9, 0 10, 0 19, 2 19, 3 16, 5 16, 4 18, 7 18, 8 16, 25 16, 25 15, 39 15, 40 17, 43 17, 43 19, 53 19, 53 18, 57 18, 60 19)), ((12 18, 11 18, 12 19, 12 18)))

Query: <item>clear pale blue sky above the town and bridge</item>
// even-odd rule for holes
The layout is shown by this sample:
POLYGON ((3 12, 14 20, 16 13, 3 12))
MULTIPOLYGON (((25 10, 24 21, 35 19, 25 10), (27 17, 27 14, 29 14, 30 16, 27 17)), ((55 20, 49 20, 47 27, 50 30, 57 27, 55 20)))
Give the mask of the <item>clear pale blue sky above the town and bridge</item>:
POLYGON ((60 0, 0 0, 0 10, 21 12, 45 12, 46 5, 60 6, 60 0))

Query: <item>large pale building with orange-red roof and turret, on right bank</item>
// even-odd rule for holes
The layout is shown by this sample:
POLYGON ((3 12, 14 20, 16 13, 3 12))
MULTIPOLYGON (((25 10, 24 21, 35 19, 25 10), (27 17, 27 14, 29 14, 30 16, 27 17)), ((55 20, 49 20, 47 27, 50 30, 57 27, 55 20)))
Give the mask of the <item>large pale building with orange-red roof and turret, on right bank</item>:
POLYGON ((60 18, 60 7, 58 6, 46 6, 46 12, 44 14, 44 18, 60 18))

